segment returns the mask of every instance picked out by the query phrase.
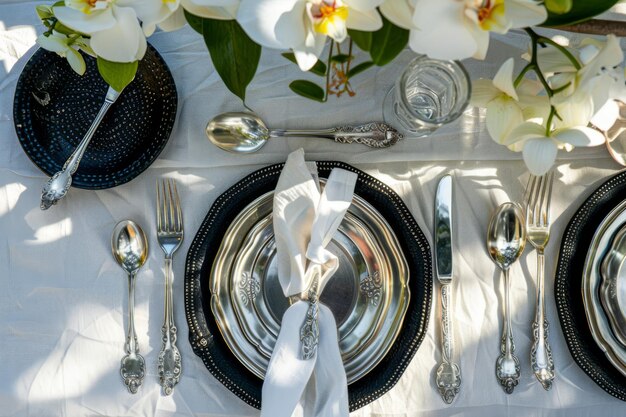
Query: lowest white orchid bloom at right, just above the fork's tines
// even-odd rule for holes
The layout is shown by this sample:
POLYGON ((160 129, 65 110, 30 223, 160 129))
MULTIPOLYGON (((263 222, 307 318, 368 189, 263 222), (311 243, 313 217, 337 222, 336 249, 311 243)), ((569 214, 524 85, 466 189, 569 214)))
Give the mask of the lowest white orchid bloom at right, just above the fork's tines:
POLYGON ((533 175, 543 175, 550 170, 559 149, 567 151, 575 146, 598 146, 605 137, 587 126, 564 127, 546 133, 546 127, 535 121, 524 122, 509 135, 505 145, 512 150, 522 150, 524 162, 533 175))

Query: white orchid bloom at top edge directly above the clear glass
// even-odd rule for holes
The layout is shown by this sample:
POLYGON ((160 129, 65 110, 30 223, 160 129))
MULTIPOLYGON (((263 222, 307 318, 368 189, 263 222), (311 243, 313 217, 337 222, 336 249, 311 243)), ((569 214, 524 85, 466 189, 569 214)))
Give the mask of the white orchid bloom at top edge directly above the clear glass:
POLYGON ((534 26, 547 18, 535 0, 418 0, 409 45, 436 59, 484 59, 489 32, 534 26))

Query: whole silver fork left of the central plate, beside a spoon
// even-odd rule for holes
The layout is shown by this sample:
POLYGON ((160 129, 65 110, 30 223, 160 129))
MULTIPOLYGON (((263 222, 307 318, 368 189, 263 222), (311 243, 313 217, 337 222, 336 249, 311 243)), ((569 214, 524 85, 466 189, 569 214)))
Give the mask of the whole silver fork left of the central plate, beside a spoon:
POLYGON ((157 240, 165 252, 165 315, 161 328, 162 345, 158 358, 159 382, 165 395, 170 395, 180 381, 182 363, 176 347, 176 324, 172 299, 172 259, 183 241, 183 213, 173 180, 157 181, 157 240))

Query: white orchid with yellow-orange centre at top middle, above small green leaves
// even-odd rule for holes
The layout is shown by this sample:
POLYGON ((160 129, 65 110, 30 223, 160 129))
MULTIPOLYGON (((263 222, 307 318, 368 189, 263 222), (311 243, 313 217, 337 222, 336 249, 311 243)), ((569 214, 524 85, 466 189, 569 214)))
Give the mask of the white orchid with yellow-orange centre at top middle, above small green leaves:
POLYGON ((300 69, 307 71, 317 62, 327 37, 342 42, 347 29, 380 29, 376 7, 382 1, 241 0, 237 20, 260 45, 292 49, 300 69))

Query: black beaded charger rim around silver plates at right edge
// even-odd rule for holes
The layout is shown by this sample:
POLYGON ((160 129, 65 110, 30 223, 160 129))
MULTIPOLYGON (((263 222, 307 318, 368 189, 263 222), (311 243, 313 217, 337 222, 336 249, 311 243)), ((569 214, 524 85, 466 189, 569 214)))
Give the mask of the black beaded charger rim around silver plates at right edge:
POLYGON ((559 252, 555 298, 567 347, 574 360, 602 389, 626 401, 626 377, 596 344, 587 322, 582 278, 589 246, 607 214, 626 198, 626 172, 602 184, 570 220, 559 252))

